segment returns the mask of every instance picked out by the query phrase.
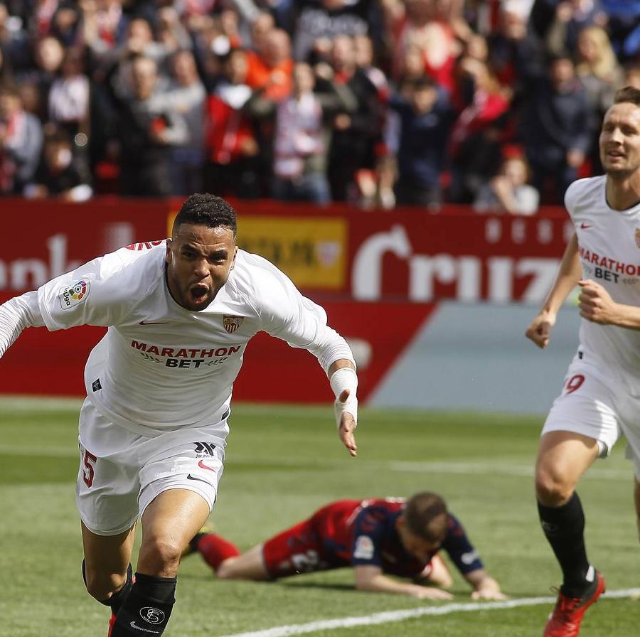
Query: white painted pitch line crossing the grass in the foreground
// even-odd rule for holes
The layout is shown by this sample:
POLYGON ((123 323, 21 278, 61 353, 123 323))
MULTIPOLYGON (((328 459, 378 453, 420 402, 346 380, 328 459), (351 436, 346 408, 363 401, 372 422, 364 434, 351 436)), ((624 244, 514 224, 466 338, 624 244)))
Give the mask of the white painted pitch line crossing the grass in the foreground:
MULTIPOLYGON (((616 599, 640 595, 640 589, 624 589, 611 591, 604 594, 605 599, 616 599)), ((444 606, 425 606, 419 609, 407 609, 404 611, 386 611, 373 615, 359 617, 343 617, 341 619, 324 619, 310 621, 309 623, 297 623, 289 626, 274 626, 262 631, 249 633, 233 633, 225 637, 290 637, 292 635, 304 635, 316 631, 331 631, 336 628, 353 628, 353 626, 373 626, 379 623, 404 621, 423 615, 448 615, 451 613, 468 613, 471 611, 491 611, 501 609, 514 609, 519 606, 536 606, 538 604, 552 604, 555 597, 523 597, 521 599, 508 599, 506 601, 470 602, 467 604, 446 604, 444 606)))

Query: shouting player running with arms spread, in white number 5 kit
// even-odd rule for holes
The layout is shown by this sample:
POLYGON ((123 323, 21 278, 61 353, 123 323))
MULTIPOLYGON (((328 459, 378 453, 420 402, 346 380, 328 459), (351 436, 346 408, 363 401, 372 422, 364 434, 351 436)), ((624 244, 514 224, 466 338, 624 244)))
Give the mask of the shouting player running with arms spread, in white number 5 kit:
POLYGON ((323 309, 265 259, 238 250, 235 211, 213 195, 183 203, 170 239, 99 257, 0 306, 0 356, 28 326, 82 324, 109 328, 87 360, 80 411, 83 575, 111 607, 111 637, 157 636, 181 552, 215 502, 247 342, 266 331, 318 358, 352 456, 356 367, 323 309))

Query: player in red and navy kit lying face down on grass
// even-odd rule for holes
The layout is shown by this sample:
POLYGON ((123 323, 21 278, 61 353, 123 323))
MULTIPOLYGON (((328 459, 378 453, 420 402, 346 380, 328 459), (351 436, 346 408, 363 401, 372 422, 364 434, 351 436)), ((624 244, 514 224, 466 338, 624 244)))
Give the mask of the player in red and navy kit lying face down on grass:
POLYGON ((356 588, 418 599, 451 599, 439 588, 451 576, 437 552, 444 548, 474 599, 506 599, 489 577, 464 528, 435 493, 405 498, 343 500, 240 555, 219 535, 198 533, 191 548, 220 579, 270 580, 299 573, 353 567, 356 588), (387 574, 409 578, 400 582, 387 574))

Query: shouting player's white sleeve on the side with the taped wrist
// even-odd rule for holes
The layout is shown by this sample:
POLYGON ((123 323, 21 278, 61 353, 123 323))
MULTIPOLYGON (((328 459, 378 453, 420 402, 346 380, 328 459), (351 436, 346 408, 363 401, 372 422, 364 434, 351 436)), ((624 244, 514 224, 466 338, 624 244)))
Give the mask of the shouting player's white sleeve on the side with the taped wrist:
POLYGON ((287 341, 292 347, 311 352, 326 373, 331 363, 346 358, 356 366, 345 339, 326 324, 326 312, 302 296, 291 280, 278 269, 269 272, 267 289, 261 294, 262 329, 287 341))

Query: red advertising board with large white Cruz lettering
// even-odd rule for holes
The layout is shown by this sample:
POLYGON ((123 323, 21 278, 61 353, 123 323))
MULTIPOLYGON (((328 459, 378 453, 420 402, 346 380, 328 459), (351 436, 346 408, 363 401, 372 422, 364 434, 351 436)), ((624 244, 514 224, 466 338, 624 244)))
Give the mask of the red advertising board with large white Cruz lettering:
POLYGON ((572 231, 565 217, 380 215, 349 227, 356 300, 544 298, 572 231))

